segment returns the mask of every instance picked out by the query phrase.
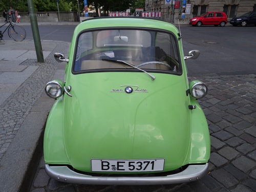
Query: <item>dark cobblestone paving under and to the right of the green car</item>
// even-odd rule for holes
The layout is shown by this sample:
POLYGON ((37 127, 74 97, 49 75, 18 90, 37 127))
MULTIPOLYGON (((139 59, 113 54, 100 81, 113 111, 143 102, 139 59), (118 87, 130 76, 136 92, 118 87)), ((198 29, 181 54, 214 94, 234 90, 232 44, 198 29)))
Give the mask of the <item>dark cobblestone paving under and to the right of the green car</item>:
POLYGON ((176 185, 66 184, 50 179, 41 159, 31 191, 255 191, 256 75, 206 74, 189 79, 208 86, 208 94, 200 101, 211 135, 209 173, 204 178, 176 185))

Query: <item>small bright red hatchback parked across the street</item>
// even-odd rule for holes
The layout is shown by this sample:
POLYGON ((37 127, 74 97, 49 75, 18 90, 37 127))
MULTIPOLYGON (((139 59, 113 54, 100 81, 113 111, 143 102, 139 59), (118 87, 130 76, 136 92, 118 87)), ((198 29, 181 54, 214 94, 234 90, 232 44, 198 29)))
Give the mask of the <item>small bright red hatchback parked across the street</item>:
POLYGON ((224 27, 227 24, 227 15, 224 12, 207 12, 197 17, 189 19, 188 22, 192 26, 201 27, 202 25, 214 25, 224 27))

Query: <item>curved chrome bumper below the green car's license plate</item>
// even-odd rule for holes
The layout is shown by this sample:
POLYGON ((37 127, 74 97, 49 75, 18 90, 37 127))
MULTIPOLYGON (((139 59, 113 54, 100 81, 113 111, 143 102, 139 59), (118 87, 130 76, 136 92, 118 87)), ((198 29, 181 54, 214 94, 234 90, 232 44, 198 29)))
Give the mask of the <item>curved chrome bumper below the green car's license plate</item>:
POLYGON ((67 166, 49 166, 46 173, 53 179, 67 183, 93 185, 160 185, 196 181, 206 174, 208 163, 189 165, 183 172, 161 177, 95 177, 73 172, 67 166))

